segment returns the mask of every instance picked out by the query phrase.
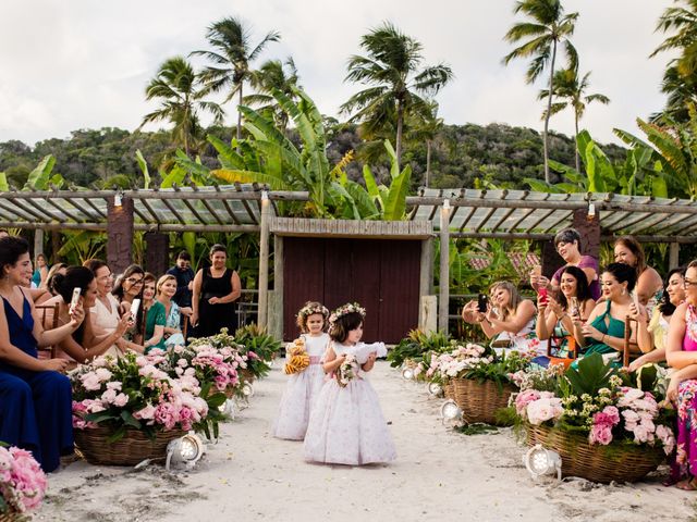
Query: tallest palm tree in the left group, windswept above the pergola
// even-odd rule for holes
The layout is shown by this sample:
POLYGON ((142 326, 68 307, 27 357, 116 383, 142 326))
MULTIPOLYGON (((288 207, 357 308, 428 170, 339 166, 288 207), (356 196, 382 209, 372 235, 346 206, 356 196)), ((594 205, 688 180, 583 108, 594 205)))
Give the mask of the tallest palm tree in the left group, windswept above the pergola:
MULTIPOLYGON (((208 27, 206 38, 213 50, 191 53, 191 55, 203 55, 213 63, 204 69, 203 82, 210 91, 229 90, 223 103, 237 95, 241 105, 244 83, 252 74, 250 63, 261 53, 267 44, 281 39, 280 33, 269 32, 261 41, 253 46, 249 28, 245 27, 242 20, 231 16, 208 27)), ((242 139, 242 113, 237 111, 237 140, 240 139, 242 139)))

